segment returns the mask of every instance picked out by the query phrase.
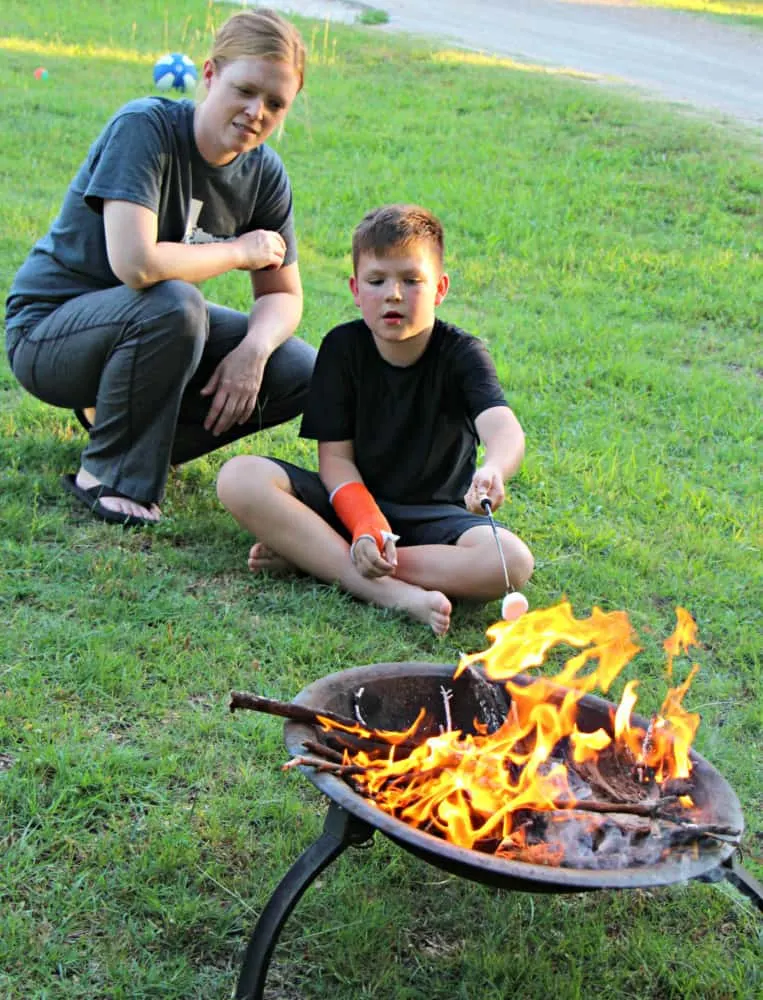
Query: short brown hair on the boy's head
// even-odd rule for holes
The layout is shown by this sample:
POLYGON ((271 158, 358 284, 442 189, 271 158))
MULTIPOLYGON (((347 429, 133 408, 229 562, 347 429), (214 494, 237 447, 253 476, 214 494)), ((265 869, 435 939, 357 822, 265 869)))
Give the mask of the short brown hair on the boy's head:
POLYGON ((420 205, 382 205, 366 212, 352 234, 352 267, 363 253, 383 256, 412 243, 426 243, 442 267, 445 235, 442 223, 420 205))

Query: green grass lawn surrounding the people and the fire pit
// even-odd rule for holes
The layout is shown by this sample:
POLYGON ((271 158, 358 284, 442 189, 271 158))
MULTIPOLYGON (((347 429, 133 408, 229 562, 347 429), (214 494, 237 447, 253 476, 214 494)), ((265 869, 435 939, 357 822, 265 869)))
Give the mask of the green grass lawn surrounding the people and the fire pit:
MULTIPOLYGON (((160 52, 200 60, 226 13, 6 4, 3 295, 106 117, 150 92, 160 52)), ((410 199, 441 216, 441 315, 485 338, 527 433, 506 516, 537 557, 528 597, 629 611, 647 711, 673 609, 692 612, 697 748, 740 797, 760 878, 756 137, 572 79, 435 58, 423 41, 302 27, 307 94, 278 146, 302 334, 317 344, 354 315, 349 235, 366 209, 410 199)), ((245 307, 241 277, 208 291, 245 307)), ((4 360, 0 442, 0 996, 222 1000, 325 811, 280 771, 280 724, 230 716, 229 690, 289 698, 362 663, 455 663, 484 646, 498 602, 457 609, 436 640, 309 580, 253 581, 214 492, 235 448, 173 475, 156 530, 91 521, 58 482, 81 430, 4 360)), ((293 425, 247 447, 312 460, 293 425)), ((749 1000, 758 931, 726 883, 501 893, 377 837, 307 893, 269 983, 285 1000, 749 1000)))

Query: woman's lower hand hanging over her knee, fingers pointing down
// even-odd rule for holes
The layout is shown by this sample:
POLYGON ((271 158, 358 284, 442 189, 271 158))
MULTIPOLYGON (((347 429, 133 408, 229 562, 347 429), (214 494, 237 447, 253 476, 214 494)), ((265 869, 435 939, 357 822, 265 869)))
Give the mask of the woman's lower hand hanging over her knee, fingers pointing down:
POLYGON ((242 341, 215 368, 212 378, 201 390, 212 396, 204 429, 217 437, 251 417, 257 403, 269 353, 258 344, 242 341))

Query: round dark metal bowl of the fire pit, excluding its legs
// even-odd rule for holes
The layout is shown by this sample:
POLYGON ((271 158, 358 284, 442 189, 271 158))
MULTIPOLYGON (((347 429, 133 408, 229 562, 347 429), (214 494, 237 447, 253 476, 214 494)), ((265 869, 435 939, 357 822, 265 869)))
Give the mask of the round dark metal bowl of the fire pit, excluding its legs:
MULTIPOLYGON (((355 696, 362 688, 360 705, 368 727, 406 729, 424 706, 427 709, 425 731, 429 734, 438 732, 439 726, 445 725, 440 692, 444 686, 453 691, 450 702, 453 727, 473 732, 474 718, 484 717, 484 698, 475 690, 473 678, 468 672, 456 681, 453 680, 454 672, 453 665, 444 663, 374 663, 322 677, 304 688, 293 700, 312 709, 334 711, 354 718, 355 696)), ((520 684, 533 679, 528 675, 514 678, 520 684)), ((503 699, 508 708, 509 696, 503 685, 483 679, 482 694, 484 684, 490 684, 495 689, 495 697, 503 699)), ((563 693, 560 689, 560 698, 563 693)), ((610 702, 585 695, 578 706, 579 728, 593 732, 601 727, 611 732, 613 709, 610 702)), ((635 715, 633 720, 643 728, 647 727, 646 719, 635 715)), ((286 747, 294 755, 305 752, 303 740, 321 740, 321 737, 322 730, 318 727, 291 721, 284 726, 286 747)), ((691 751, 691 761, 694 781, 692 797, 702 810, 703 821, 728 825, 741 831, 744 825, 742 810, 731 786, 698 753, 691 751)), ((668 885, 714 871, 735 851, 733 844, 705 838, 696 851, 672 852, 675 856, 668 855, 653 865, 588 870, 528 864, 457 847, 382 812, 370 799, 358 795, 336 775, 318 773, 310 767, 300 767, 300 770, 329 799, 380 830, 405 850, 445 871, 498 888, 526 892, 581 892, 668 885)))

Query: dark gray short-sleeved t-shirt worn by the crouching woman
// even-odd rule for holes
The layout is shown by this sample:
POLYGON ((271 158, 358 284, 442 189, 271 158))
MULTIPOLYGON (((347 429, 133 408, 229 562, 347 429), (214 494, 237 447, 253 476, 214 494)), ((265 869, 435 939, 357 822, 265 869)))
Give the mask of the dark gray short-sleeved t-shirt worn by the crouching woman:
POLYGON ((286 242, 284 265, 297 259, 291 185, 278 154, 258 146, 211 166, 196 147, 194 107, 189 100, 140 98, 108 122, 50 230, 16 274, 7 329, 34 325, 70 298, 121 284, 106 253, 106 200, 155 212, 161 242, 206 243, 269 229, 286 242))

